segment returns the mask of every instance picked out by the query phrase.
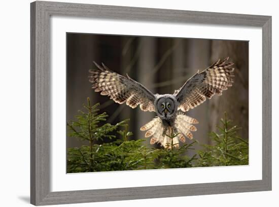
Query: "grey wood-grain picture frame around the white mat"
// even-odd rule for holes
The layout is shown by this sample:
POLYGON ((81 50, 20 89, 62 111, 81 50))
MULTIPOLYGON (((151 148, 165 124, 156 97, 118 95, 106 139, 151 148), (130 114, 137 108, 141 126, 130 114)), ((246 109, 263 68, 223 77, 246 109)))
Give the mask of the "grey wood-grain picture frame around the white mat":
POLYGON ((31 203, 34 205, 271 190, 271 17, 243 14, 31 3, 31 203), (50 192, 50 16, 257 26, 262 28, 262 180, 50 192))

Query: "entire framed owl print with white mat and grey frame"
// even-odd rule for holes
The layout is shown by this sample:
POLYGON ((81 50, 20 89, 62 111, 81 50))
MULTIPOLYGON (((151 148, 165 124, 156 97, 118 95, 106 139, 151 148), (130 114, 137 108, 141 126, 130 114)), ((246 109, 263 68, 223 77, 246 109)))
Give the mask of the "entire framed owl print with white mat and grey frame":
POLYGON ((271 17, 31 3, 32 204, 263 190, 271 17))

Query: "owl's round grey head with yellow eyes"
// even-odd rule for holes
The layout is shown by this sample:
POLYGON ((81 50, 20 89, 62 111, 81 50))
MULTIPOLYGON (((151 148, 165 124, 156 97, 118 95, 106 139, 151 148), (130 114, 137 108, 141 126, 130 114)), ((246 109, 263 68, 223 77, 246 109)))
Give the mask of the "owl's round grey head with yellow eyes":
POLYGON ((172 94, 157 95, 155 99, 155 111, 161 119, 170 119, 176 115, 178 101, 172 94))

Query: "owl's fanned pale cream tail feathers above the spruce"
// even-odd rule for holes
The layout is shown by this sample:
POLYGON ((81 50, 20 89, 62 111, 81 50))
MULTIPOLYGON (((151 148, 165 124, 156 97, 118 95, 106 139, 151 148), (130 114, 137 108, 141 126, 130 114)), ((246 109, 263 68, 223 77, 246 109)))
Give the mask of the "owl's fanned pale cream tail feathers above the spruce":
POLYGON ((192 124, 197 124, 198 121, 194 118, 179 114, 175 120, 175 125, 165 127, 159 117, 152 119, 150 122, 141 127, 142 131, 146 131, 145 137, 151 137, 150 144, 159 143, 164 148, 179 147, 179 141, 185 142, 186 137, 193 139, 191 131, 196 131, 196 127, 192 124), (177 134, 172 139, 173 134, 177 134), (171 142, 172 140, 172 142, 171 142))

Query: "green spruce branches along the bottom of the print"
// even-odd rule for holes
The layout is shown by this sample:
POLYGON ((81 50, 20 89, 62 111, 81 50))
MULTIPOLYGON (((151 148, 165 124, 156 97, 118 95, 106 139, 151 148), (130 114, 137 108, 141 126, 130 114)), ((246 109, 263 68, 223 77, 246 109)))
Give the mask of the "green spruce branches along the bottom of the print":
POLYGON ((99 103, 92 105, 88 98, 76 120, 67 123, 69 139, 76 137, 88 141, 88 145, 68 148, 69 173, 248 164, 248 140, 237 134, 239 128, 231 126, 226 113, 218 126, 219 132, 210 134, 214 145, 204 145, 204 150, 196 152, 196 141, 180 147, 174 144, 173 139, 179 133, 173 131, 166 134, 170 140, 167 143, 169 149, 148 147, 146 139, 132 139, 129 120, 115 125, 106 123, 108 115, 105 112, 99 114, 98 107, 99 103), (189 157, 189 150, 196 153, 189 157))

